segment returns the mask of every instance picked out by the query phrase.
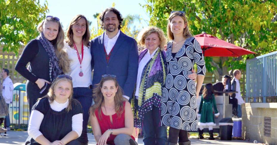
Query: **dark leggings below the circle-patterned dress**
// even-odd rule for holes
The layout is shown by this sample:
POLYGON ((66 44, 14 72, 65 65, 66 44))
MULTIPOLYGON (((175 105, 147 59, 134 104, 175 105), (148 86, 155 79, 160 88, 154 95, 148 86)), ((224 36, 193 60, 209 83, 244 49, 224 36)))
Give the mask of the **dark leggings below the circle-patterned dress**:
POLYGON ((173 127, 169 127, 169 135, 168 135, 168 142, 177 144, 178 137, 180 142, 187 142, 189 141, 188 131, 186 130, 179 130, 173 127))

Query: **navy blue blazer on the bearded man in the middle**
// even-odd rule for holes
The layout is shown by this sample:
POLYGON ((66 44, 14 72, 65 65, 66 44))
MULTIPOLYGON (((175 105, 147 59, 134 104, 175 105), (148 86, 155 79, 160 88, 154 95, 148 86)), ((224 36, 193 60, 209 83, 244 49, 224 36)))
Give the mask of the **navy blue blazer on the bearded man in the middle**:
POLYGON ((91 40, 92 85, 98 84, 103 74, 116 75, 124 95, 133 96, 138 74, 138 46, 135 39, 120 32, 109 63, 104 52, 104 33, 91 40))

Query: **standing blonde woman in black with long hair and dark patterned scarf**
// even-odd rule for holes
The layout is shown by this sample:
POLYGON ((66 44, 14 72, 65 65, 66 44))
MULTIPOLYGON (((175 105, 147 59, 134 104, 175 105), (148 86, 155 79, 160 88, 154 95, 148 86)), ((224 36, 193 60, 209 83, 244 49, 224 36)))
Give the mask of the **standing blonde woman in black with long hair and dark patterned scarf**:
POLYGON ((46 95, 50 83, 70 69, 67 54, 62 50, 64 32, 60 19, 47 16, 37 29, 40 35, 29 41, 15 65, 15 70, 27 79, 30 112, 37 99, 46 95))

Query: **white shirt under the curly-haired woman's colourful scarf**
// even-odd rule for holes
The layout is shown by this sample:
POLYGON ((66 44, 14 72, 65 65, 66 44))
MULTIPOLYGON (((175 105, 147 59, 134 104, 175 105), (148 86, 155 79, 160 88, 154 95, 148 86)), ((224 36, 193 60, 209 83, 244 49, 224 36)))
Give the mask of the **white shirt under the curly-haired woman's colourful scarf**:
POLYGON ((151 55, 149 53, 149 50, 147 50, 146 54, 144 54, 143 58, 138 64, 138 76, 137 76, 137 85, 136 85, 136 93, 135 93, 136 99, 138 99, 139 86, 141 83, 140 81, 141 81, 141 74, 142 74, 143 68, 145 67, 147 62, 155 55, 158 49, 159 47, 151 55))

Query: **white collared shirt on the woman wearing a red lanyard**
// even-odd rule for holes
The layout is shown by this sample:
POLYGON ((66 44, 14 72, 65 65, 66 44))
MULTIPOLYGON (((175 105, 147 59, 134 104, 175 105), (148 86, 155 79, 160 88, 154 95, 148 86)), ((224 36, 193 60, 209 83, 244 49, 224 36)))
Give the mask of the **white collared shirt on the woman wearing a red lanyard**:
MULTIPOLYGON (((73 88, 75 87, 88 87, 92 84, 91 80, 91 50, 87 46, 84 46, 84 58, 82 61, 82 72, 83 76, 80 77, 79 73, 81 71, 80 62, 77 56, 77 51, 72 49, 68 43, 64 43, 64 51, 68 54, 70 62, 71 71, 66 73, 72 77, 73 88)), ((82 60, 82 52, 79 52, 80 59, 82 60)))

